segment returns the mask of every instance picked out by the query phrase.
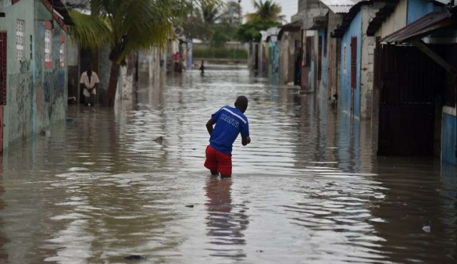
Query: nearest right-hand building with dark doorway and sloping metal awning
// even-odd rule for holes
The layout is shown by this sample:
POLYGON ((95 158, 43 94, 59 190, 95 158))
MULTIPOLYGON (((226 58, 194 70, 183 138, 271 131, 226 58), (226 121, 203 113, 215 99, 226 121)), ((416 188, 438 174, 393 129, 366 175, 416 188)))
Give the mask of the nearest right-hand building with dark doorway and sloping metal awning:
POLYGON ((385 1, 376 36, 373 128, 381 155, 434 155, 456 164, 457 43, 448 1, 385 1))

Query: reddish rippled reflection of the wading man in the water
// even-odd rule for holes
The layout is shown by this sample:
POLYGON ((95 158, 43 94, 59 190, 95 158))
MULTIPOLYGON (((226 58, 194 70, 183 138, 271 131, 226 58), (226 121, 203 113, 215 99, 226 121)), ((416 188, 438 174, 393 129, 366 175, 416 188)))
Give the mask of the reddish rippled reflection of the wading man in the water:
POLYGON ((246 257, 242 247, 245 245, 243 231, 248 228, 248 216, 245 205, 232 205, 231 178, 211 176, 206 183, 207 233, 210 243, 219 245, 211 250, 210 255, 235 259, 246 257))

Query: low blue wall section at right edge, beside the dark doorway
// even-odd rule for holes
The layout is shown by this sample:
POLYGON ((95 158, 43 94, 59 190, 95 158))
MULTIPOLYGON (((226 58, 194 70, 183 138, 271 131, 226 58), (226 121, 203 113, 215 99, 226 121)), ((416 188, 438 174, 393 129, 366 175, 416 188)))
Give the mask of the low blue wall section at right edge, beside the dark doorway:
POLYGON ((457 164, 456 160, 456 117, 443 113, 441 136, 441 160, 457 164))

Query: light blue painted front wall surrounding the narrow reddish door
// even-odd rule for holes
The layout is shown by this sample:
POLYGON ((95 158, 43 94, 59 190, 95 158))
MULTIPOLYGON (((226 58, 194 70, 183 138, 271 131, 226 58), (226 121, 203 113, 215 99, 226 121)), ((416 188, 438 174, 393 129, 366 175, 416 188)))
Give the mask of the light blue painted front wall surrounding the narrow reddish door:
POLYGON ((354 116, 360 116, 360 71, 361 71, 361 11, 354 17, 346 34, 341 39, 341 65, 340 65, 340 91, 338 94, 338 106, 343 111, 351 111, 351 37, 357 37, 357 76, 356 89, 354 91, 354 116), (346 45, 346 59, 344 46, 346 45), (344 67, 346 66, 346 72, 344 67))

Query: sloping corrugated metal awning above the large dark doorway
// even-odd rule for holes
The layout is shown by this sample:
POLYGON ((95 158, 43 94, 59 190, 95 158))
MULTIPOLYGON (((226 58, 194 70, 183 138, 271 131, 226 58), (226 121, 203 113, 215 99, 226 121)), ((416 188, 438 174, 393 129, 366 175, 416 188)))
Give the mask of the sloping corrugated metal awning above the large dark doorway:
POLYGON ((422 39, 433 31, 451 26, 454 23, 455 17, 448 11, 433 12, 414 21, 408 26, 405 26, 403 29, 384 37, 381 39, 381 42, 386 42, 388 44, 404 44, 408 41, 422 39))

